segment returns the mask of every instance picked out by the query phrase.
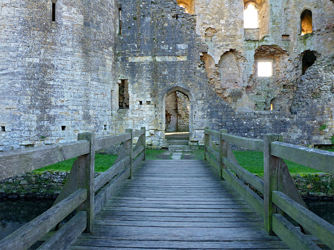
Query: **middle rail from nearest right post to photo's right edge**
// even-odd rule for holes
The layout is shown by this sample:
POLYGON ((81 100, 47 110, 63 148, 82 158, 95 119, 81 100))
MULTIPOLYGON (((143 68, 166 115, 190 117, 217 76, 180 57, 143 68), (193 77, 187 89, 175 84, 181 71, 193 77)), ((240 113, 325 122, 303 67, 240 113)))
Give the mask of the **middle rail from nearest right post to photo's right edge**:
POLYGON ((334 248, 334 226, 332 224, 279 191, 273 191, 273 202, 329 248, 334 248))

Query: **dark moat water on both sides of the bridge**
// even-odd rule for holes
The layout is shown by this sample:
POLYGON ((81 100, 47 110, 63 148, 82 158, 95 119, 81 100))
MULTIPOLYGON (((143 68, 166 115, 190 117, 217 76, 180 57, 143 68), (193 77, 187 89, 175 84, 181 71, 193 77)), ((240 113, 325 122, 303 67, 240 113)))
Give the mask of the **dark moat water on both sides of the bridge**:
MULTIPOLYGON (((53 202, 53 200, 5 200, 0 202, 0 239, 45 212, 53 202)), ((305 203, 313 213, 334 225, 333 200, 306 200, 305 203)))

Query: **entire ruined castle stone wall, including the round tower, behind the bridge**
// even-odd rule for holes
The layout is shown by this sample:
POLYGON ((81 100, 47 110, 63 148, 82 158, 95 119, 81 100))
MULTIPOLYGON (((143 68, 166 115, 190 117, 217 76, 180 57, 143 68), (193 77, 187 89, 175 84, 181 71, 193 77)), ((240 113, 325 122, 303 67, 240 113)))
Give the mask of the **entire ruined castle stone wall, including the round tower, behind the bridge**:
POLYGON ((52 1, 0 0, 0 150, 142 126, 148 148, 165 147, 176 91, 189 99, 190 145, 203 145, 204 126, 332 143, 332 1, 52 1), (243 28, 249 3, 258 28, 243 28), (316 61, 302 75, 307 53, 316 61), (262 61, 272 76, 258 76, 262 61))

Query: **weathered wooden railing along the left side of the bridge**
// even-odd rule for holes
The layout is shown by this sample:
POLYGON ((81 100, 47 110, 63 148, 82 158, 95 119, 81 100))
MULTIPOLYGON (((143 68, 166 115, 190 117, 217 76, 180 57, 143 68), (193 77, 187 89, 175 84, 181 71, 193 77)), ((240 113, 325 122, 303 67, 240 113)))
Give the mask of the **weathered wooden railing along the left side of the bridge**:
POLYGON ((29 248, 51 229, 57 228, 74 209, 76 215, 38 249, 66 249, 84 230, 92 232, 95 214, 145 160, 145 134, 145 127, 100 138, 95 138, 94 133, 81 133, 76 142, 0 152, 0 180, 77 157, 53 206, 4 238, 0 242, 0 249, 29 248), (139 139, 133 149, 135 137, 139 139), (94 178, 95 151, 119 143, 123 145, 113 166, 94 178))

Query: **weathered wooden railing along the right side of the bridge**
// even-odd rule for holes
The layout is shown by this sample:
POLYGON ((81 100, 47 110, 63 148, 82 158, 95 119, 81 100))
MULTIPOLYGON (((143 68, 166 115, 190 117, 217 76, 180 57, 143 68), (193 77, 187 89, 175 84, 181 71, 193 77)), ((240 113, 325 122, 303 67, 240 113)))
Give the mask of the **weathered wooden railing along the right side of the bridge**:
MULTIPOLYGON (((321 243, 334 249, 334 226, 310 212, 300 197, 283 159, 334 174, 334 153, 283 143, 278 134, 267 134, 264 140, 250 139, 204 128, 204 159, 225 179, 264 219, 269 235, 276 234, 291 249, 320 249, 304 228, 321 243), (219 148, 212 138, 217 138, 219 148), (264 181, 242 168, 235 159, 230 143, 264 152, 264 181), (233 171, 237 177, 230 170, 233 171), (264 195, 264 199, 244 185, 250 184, 264 195), (293 226, 283 211, 301 226, 293 226)), ((314 238, 314 237, 313 237, 314 238)))

